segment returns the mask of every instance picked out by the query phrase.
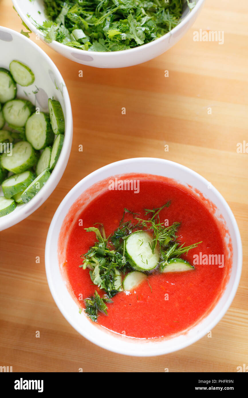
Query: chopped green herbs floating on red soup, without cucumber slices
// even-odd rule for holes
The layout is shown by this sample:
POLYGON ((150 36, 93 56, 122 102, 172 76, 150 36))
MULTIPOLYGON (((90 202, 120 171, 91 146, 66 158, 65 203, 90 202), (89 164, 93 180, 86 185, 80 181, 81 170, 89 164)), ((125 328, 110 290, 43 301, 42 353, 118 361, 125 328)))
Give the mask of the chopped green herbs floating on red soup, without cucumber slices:
MULTIPOLYGON (((180 227, 180 222, 174 222, 170 226, 164 226, 160 222, 160 212, 169 207, 170 201, 161 207, 154 209, 145 209, 145 215, 150 215, 148 219, 139 218, 139 213, 134 213, 128 209, 124 209, 123 217, 120 221, 119 227, 113 232, 113 235, 106 238, 103 225, 98 223, 99 228, 92 226, 85 228, 87 232, 94 232, 96 234, 97 242, 92 246, 86 254, 83 254, 81 268, 89 269, 90 278, 94 285, 97 285, 105 296, 100 298, 100 295, 95 291, 94 297, 86 298, 85 304, 86 314, 94 321, 97 322, 98 311, 107 314, 106 302, 113 302, 111 300, 117 293, 123 290, 122 275, 133 271, 131 263, 125 258, 125 240, 131 235, 134 236, 135 232, 149 232, 150 249, 152 254, 159 248, 159 261, 156 270, 162 269, 170 259, 180 258, 182 254, 187 254, 190 249, 196 248, 201 242, 184 246, 178 241, 176 232, 180 227), (131 220, 124 221, 126 218, 131 220), (101 231, 100 231, 101 230, 101 231)), ((142 248, 144 241, 138 238, 139 247, 142 248)), ((148 246, 149 247, 149 246, 148 246)), ((143 259, 141 255, 141 262, 148 264, 147 259, 143 259)), ((154 271, 153 269, 152 271, 154 271)), ((142 270, 142 272, 146 272, 142 270)), ((152 288, 149 284, 151 289, 152 288)))

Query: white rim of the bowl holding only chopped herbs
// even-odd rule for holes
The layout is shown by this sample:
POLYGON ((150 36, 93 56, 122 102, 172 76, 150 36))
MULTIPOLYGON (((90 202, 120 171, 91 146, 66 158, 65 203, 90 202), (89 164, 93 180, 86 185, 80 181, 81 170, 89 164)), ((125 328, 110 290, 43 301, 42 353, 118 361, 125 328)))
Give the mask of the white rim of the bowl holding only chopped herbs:
MULTIPOLYGON (((184 25, 186 25, 186 23, 198 12, 198 10, 201 8, 201 6, 203 5, 204 2, 205 2, 205 0, 198 0, 195 7, 191 11, 189 11, 189 13, 186 15, 186 17, 184 17, 184 19, 180 23, 178 23, 178 25, 176 25, 170 32, 167 32, 165 35, 159 37, 156 40, 150 41, 149 43, 146 43, 143 45, 139 45, 132 49, 120 50, 120 51, 86 51, 86 50, 76 49, 74 47, 68 47, 65 44, 59 43, 58 41, 55 41, 55 40, 53 40, 51 43, 47 43, 47 42, 45 42, 45 43, 49 46, 52 45, 54 47, 55 51, 58 51, 59 53, 61 53, 59 51, 60 49, 68 47, 70 49, 70 51, 73 51, 73 53, 75 55, 82 54, 82 55, 89 56, 90 54, 92 54, 95 57, 106 57, 107 56, 107 57, 115 58, 119 54, 120 55, 130 54, 130 53, 132 54, 134 51, 138 52, 138 51, 143 51, 143 49, 147 50, 149 47, 154 45, 154 43, 160 43, 161 41, 166 40, 172 34, 176 33, 179 29, 181 29, 184 25)), ((12 0, 12 3, 14 4, 14 7, 16 8, 16 11, 18 12, 20 18, 25 22, 25 24, 29 27, 29 29, 31 29, 32 32, 39 35, 41 37, 41 39, 43 41, 45 41, 43 36, 41 35, 41 31, 39 29, 37 29, 35 27, 35 25, 33 25, 33 23, 30 22, 30 18, 28 18, 27 15, 22 12, 21 2, 18 0, 12 0)))

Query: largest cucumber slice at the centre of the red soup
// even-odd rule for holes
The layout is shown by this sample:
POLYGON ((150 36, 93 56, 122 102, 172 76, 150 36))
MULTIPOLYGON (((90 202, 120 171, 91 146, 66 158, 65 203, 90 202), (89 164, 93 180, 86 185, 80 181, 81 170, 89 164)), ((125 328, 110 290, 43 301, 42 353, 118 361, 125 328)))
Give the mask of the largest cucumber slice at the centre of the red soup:
POLYGON ((159 250, 152 253, 152 236, 145 231, 134 232, 125 240, 125 253, 129 263, 137 271, 151 271, 159 261, 159 250))

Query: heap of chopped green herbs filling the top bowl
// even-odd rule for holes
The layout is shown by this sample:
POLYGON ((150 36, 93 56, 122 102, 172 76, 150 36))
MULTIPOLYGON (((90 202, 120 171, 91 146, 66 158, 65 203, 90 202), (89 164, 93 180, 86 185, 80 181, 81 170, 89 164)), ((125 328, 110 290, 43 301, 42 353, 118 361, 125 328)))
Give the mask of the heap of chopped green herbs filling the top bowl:
MULTIPOLYGON (((149 43, 178 25, 189 0, 44 0, 45 40, 88 51, 120 51, 149 43)), ((27 15, 29 18, 29 14, 27 15)))

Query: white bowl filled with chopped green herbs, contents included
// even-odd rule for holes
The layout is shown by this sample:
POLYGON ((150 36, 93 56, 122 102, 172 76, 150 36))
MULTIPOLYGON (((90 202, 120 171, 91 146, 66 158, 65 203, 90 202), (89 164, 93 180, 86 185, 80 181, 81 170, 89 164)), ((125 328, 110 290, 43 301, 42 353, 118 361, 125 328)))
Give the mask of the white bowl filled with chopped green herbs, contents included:
POLYGON ((64 57, 98 68, 141 64, 180 40, 204 0, 12 0, 27 27, 64 57))

